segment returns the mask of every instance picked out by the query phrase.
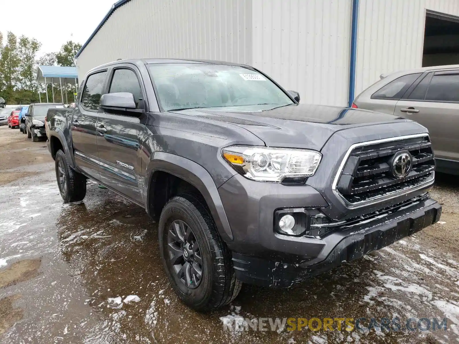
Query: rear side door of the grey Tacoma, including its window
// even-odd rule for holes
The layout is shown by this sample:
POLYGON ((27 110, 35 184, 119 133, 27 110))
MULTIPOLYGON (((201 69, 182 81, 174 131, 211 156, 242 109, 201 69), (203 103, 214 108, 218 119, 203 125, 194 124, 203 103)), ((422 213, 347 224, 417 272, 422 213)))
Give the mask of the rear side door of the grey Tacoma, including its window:
POLYGON ((77 166, 91 178, 99 180, 96 125, 101 94, 107 72, 91 74, 84 85, 81 101, 73 112, 72 144, 77 166))

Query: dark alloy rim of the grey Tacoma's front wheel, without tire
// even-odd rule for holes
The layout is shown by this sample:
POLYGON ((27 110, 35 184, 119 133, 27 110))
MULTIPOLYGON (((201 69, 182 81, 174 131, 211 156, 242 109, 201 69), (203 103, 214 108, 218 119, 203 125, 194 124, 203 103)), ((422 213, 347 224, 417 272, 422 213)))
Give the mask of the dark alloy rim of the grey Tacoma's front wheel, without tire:
POLYGON ((169 226, 168 255, 180 282, 190 289, 197 288, 203 274, 201 250, 190 226, 182 220, 169 226))

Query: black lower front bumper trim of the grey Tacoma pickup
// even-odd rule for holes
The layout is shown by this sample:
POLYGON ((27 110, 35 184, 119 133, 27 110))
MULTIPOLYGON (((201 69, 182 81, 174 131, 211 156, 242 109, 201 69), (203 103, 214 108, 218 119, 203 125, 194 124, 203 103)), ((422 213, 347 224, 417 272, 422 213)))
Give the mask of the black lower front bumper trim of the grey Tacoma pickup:
POLYGON ((371 251, 380 250, 437 222, 442 206, 432 199, 421 203, 422 207, 417 206, 415 210, 410 207, 384 219, 347 228, 347 235, 328 254, 325 253, 325 259, 312 265, 310 262, 291 264, 270 261, 233 252, 236 277, 244 283, 279 288, 304 281, 371 251))

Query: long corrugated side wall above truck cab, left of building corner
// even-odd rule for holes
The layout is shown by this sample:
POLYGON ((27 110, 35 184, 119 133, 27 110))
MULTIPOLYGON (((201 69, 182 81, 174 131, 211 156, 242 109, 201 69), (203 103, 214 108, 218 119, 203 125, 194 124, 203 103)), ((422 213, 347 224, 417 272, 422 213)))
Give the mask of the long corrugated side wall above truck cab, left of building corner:
POLYGON ((132 0, 119 7, 78 57, 78 77, 118 58, 252 61, 250 0, 132 0))

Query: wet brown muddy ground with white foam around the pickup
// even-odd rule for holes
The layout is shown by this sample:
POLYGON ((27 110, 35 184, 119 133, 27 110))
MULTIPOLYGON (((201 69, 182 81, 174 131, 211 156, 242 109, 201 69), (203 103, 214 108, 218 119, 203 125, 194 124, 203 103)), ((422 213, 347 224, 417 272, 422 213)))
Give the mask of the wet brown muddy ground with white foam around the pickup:
POLYGON ((458 179, 438 175, 431 194, 442 223, 291 289, 246 285, 231 305, 203 315, 172 292, 156 223, 140 207, 92 182, 83 203, 64 204, 45 142, 0 127, 0 342, 457 343, 458 179), (121 303, 128 295, 140 300, 121 303), (402 324, 447 317, 447 330, 243 326, 246 318, 396 316, 402 324))

